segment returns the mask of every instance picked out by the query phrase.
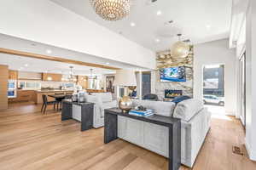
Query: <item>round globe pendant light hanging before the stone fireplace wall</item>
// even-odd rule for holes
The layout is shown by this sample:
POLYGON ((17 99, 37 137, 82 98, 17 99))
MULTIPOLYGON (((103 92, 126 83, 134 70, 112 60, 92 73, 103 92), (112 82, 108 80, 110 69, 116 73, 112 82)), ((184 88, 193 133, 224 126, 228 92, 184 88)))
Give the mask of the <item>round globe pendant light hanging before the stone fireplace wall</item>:
POLYGON ((172 45, 171 53, 173 58, 185 58, 189 55, 189 45, 181 41, 182 34, 177 34, 178 42, 172 45))

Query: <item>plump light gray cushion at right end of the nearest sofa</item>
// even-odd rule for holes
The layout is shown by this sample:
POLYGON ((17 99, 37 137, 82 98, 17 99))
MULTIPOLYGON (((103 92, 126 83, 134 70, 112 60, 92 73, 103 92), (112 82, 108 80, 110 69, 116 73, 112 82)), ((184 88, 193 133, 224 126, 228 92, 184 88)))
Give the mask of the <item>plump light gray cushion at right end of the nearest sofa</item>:
POLYGON ((203 107, 203 102, 199 99, 186 99, 176 105, 173 117, 189 122, 203 107))

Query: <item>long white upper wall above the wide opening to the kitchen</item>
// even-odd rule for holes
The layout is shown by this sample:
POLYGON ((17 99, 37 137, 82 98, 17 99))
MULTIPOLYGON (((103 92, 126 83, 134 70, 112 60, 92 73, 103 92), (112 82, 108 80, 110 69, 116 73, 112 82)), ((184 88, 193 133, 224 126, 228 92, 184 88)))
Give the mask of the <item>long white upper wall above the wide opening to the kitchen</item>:
POLYGON ((153 51, 49 0, 2 0, 0 20, 3 34, 155 68, 153 51))

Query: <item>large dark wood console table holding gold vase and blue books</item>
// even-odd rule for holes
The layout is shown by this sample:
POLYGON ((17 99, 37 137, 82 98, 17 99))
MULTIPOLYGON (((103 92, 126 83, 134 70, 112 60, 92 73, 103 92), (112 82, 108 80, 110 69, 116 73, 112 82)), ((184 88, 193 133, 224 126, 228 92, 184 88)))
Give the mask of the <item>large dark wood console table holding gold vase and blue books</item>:
POLYGON ((118 116, 125 116, 143 122, 150 122, 169 128, 169 170, 178 170, 181 166, 181 120, 167 116, 132 116, 118 108, 106 109, 104 117, 104 143, 118 139, 118 116))

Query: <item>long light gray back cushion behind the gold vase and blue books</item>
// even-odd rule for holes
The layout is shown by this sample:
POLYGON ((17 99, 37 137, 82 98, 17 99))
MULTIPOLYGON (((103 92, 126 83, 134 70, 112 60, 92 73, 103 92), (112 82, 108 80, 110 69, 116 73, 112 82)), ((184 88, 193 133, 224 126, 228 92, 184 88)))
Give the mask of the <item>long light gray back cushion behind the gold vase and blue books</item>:
POLYGON ((154 111, 154 114, 160 116, 172 116, 175 108, 175 104, 172 102, 164 102, 164 101, 151 101, 151 100, 132 100, 133 107, 138 105, 143 105, 148 109, 154 111))

